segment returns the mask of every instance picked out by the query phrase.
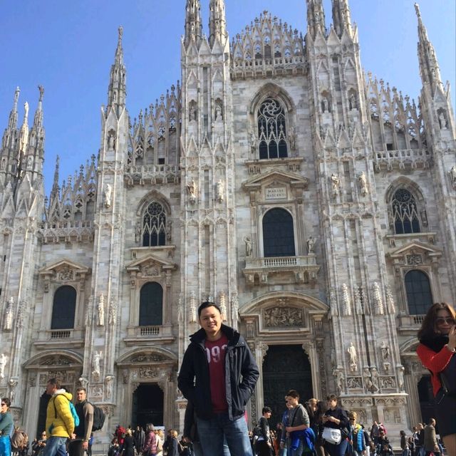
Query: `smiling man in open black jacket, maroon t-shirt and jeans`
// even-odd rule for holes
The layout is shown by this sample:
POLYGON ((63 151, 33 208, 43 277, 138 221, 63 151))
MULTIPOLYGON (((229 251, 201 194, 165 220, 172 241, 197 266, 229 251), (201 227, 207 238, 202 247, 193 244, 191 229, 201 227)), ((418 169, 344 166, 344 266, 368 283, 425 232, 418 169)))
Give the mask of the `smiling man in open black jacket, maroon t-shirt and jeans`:
POLYGON ((179 389, 195 406, 204 455, 223 456, 224 439, 231 456, 252 456, 245 405, 259 377, 244 338, 222 324, 219 306, 198 308, 202 328, 190 336, 178 377, 179 389))

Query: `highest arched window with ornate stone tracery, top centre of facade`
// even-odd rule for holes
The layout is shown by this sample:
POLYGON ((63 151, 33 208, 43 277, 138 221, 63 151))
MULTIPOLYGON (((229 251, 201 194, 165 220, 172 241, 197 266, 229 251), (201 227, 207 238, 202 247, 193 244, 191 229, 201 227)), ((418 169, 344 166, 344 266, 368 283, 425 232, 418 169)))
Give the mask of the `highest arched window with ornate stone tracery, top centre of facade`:
POLYGON ((264 100, 259 108, 258 138, 260 159, 288 156, 285 111, 273 98, 264 100))

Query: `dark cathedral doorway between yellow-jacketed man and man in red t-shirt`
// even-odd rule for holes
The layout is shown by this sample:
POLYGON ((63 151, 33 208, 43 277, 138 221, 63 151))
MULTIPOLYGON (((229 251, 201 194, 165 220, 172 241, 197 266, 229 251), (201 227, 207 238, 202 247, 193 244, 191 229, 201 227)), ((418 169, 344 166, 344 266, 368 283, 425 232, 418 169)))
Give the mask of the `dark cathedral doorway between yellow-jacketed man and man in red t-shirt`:
POLYGON ((163 391, 157 383, 141 383, 133 393, 131 425, 163 425, 163 391))

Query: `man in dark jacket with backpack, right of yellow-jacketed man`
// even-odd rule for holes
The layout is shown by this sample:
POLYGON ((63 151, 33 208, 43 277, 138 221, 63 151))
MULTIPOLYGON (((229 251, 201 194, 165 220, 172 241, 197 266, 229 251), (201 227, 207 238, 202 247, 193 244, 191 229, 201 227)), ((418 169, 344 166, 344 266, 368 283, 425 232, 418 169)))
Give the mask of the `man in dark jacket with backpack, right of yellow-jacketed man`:
POLYGON ((79 425, 75 427, 73 439, 68 445, 70 456, 83 456, 88 452, 88 442, 93 426, 93 405, 87 400, 86 388, 76 390, 76 413, 79 417, 79 425))

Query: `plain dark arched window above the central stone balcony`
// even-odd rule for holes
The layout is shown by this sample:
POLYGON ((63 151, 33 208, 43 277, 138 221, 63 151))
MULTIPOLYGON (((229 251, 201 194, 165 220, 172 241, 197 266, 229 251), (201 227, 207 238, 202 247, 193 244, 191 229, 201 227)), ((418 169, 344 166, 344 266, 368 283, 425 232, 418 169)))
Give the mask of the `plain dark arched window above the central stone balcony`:
POLYGON ((263 217, 264 257, 294 257, 293 217, 285 209, 270 209, 263 217))

